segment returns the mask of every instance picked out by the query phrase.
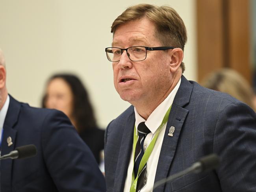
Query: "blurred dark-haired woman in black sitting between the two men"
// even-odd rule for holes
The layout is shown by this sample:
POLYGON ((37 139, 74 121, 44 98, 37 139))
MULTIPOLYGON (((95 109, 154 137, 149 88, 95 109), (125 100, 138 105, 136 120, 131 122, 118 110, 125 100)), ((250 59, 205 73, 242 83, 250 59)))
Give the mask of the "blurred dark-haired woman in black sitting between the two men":
POLYGON ((99 164, 104 149, 104 130, 96 125, 93 107, 82 81, 73 74, 54 74, 46 85, 42 107, 65 113, 99 164))

